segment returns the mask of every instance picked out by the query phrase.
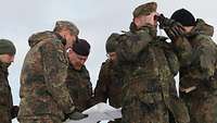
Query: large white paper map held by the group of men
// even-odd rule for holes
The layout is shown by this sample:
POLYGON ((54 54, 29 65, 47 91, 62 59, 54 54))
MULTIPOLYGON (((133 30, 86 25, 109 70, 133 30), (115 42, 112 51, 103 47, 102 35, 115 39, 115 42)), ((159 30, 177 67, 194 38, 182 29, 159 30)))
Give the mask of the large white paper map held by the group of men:
POLYGON ((100 102, 82 112, 88 114, 88 118, 79 121, 67 120, 65 123, 97 123, 98 121, 104 120, 112 121, 114 119, 122 118, 120 110, 120 108, 115 109, 107 103, 100 102))

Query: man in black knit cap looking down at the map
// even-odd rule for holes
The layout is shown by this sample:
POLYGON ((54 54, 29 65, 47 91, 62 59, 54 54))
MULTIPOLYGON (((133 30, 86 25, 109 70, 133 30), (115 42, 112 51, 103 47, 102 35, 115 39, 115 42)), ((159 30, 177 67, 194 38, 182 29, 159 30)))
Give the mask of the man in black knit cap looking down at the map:
POLYGON ((69 66, 67 70, 66 85, 78 111, 91 107, 92 84, 85 62, 90 52, 90 45, 85 39, 78 39, 72 48, 67 49, 69 66))

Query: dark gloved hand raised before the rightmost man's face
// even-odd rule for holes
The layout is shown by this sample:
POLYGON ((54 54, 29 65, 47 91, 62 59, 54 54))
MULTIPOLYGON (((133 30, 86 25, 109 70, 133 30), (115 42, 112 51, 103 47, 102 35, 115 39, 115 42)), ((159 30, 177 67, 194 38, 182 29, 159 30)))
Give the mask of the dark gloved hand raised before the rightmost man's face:
POLYGON ((169 38, 174 39, 184 34, 184 28, 180 23, 167 19, 163 14, 155 15, 155 19, 159 23, 159 28, 164 29, 169 38))

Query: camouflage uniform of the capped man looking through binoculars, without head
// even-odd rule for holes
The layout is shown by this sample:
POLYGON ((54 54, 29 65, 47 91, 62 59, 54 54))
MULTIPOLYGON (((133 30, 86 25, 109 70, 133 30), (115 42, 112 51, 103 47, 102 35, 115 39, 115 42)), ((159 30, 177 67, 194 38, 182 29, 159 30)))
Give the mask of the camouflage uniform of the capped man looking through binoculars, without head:
POLYGON ((168 78, 174 76, 162 48, 168 44, 156 37, 151 26, 131 28, 120 40, 117 58, 125 71, 123 122, 168 123, 165 100, 169 99, 168 78))

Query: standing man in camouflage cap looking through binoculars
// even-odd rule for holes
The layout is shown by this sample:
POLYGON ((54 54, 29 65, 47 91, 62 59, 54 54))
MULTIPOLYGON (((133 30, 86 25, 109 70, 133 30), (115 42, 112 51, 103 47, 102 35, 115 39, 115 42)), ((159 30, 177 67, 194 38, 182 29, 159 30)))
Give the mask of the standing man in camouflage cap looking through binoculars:
MULTIPOLYGON (((179 63, 166 38, 156 36, 156 8, 155 2, 136 8, 130 30, 119 37, 124 123, 168 123, 168 109, 174 112, 170 104, 176 101, 174 75, 179 63)), ((188 119, 188 112, 183 115, 188 119)))

